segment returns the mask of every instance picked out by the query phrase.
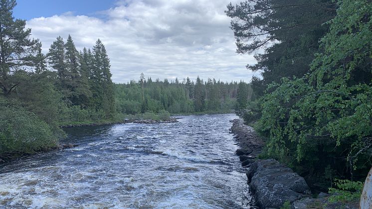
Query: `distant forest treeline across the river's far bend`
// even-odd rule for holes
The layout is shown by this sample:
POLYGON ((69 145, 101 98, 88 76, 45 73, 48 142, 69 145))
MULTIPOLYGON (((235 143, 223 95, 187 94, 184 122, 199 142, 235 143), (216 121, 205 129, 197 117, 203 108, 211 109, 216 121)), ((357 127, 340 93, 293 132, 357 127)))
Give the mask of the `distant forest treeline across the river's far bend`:
POLYGON ((125 114, 157 113, 160 110, 179 114, 230 112, 236 108, 239 86, 245 87, 246 93, 241 93, 241 97, 244 96, 243 101, 246 101, 252 90, 242 81, 227 83, 210 78, 203 81, 199 77, 195 82, 188 77, 181 82, 178 78, 175 81, 161 81, 159 78, 153 81, 141 74, 139 81, 115 84, 116 108, 125 114))

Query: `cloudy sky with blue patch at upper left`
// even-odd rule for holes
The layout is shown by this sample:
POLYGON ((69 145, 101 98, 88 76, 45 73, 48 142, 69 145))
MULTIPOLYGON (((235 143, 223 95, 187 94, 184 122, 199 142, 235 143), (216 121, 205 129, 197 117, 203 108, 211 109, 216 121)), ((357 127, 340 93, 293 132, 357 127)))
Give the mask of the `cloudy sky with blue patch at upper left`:
POLYGON ((249 81, 253 55, 235 53, 224 14, 240 0, 17 0, 16 18, 27 20, 46 53, 58 35, 71 34, 78 49, 100 38, 111 59, 113 81, 200 76, 249 81))

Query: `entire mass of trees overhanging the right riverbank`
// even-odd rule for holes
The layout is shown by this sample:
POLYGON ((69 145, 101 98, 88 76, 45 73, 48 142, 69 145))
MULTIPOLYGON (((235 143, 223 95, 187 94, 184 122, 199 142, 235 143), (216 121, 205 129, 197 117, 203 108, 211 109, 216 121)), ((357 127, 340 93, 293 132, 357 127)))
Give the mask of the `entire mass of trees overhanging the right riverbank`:
MULTIPOLYGON (((313 189, 364 181, 372 166, 371 0, 247 0, 227 6, 238 53, 252 53, 256 106, 244 115, 267 137, 264 156, 313 189)), ((323 188, 323 189, 322 189, 323 188)), ((353 187, 346 187, 353 188, 353 187)))

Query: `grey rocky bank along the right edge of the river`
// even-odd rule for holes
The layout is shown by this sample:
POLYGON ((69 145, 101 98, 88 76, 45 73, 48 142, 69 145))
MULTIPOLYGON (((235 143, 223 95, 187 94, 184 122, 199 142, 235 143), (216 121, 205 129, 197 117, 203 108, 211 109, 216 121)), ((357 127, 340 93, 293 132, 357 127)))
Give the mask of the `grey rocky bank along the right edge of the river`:
POLYGON ((236 155, 247 168, 248 185, 254 195, 256 206, 260 209, 280 209, 284 203, 290 202, 292 209, 357 209, 358 205, 328 203, 328 195, 311 196, 309 186, 304 178, 294 173, 286 165, 274 159, 258 160, 264 142, 252 127, 244 125, 241 119, 233 123, 230 131, 238 142, 236 155))

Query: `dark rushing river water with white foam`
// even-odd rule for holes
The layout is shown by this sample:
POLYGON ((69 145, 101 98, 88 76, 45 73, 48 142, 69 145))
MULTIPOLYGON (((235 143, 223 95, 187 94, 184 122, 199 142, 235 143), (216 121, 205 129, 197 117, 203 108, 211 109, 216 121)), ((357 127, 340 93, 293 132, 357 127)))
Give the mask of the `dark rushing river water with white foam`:
POLYGON ((78 147, 0 165, 0 208, 250 208, 234 118, 68 128, 78 147))

